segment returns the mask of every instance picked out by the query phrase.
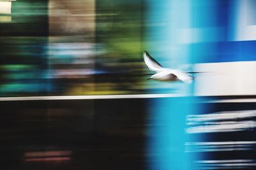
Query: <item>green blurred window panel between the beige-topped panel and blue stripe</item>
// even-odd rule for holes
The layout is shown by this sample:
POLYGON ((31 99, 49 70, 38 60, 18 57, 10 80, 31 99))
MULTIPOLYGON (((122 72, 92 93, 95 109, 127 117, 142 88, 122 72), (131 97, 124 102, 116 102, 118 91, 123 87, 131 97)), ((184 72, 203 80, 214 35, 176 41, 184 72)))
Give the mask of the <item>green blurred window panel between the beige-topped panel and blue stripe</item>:
POLYGON ((112 89, 122 89, 122 93, 145 93, 142 1, 99 0, 96 4, 96 42, 104 47, 97 59, 125 72, 121 75, 123 78, 116 78, 112 89))

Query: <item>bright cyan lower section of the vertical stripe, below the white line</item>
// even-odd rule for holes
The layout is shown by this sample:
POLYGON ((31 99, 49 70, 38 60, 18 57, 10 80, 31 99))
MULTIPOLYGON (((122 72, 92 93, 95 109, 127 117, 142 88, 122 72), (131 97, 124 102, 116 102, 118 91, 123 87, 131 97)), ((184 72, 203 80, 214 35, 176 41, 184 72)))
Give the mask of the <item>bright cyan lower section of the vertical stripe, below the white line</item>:
POLYGON ((187 170, 189 157, 184 143, 186 114, 191 110, 191 98, 164 98, 152 101, 154 110, 150 113, 148 155, 150 169, 187 170))

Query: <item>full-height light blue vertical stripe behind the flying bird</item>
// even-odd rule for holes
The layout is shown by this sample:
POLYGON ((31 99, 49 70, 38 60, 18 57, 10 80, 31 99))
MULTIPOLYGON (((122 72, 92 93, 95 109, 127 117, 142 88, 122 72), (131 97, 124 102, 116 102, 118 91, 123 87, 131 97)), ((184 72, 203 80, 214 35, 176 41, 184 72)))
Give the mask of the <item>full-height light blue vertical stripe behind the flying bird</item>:
MULTIPOLYGON (((179 68, 189 63, 189 36, 182 30, 189 27, 188 0, 164 0, 159 3, 147 0, 145 16, 148 24, 145 30, 148 52, 166 68, 179 68)), ((148 81, 151 93, 193 94, 193 84, 148 81)), ((193 109, 193 98, 161 98, 154 102, 154 109, 148 108, 148 168, 150 170, 189 170, 190 155, 185 153, 184 143, 188 140, 185 130, 186 115, 193 109)))

